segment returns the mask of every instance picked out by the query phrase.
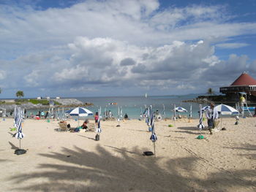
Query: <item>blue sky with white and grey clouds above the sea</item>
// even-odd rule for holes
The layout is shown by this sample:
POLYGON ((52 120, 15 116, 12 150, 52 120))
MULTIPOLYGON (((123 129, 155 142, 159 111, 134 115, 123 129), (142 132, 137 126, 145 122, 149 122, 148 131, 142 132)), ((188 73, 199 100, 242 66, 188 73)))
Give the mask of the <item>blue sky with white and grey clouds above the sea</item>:
POLYGON ((256 78, 255 0, 0 0, 0 98, 206 93, 256 78))

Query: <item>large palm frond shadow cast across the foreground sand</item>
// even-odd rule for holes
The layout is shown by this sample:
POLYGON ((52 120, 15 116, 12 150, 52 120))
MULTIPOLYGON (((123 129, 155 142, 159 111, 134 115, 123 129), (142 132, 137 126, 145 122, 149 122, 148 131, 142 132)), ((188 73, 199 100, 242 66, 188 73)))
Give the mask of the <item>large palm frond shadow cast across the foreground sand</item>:
POLYGON ((96 152, 75 147, 40 154, 58 160, 58 164, 39 164, 34 173, 18 174, 8 180, 16 184, 13 190, 17 191, 225 191, 234 185, 255 186, 245 178, 248 172, 255 174, 252 170, 239 171, 243 178, 234 177, 236 172, 216 172, 202 179, 192 172, 199 160, 196 157, 172 158, 159 166, 161 158, 138 155, 138 147, 132 153, 126 148, 107 147, 113 151, 98 145, 96 152), (18 185, 28 180, 39 183, 18 185))

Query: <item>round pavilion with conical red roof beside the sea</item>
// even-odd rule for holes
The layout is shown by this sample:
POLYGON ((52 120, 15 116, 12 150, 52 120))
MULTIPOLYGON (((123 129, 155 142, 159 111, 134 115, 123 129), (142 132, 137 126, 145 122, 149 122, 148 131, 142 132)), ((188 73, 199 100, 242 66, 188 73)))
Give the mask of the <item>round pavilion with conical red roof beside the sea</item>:
POLYGON ((227 95, 245 92, 256 96, 256 80, 243 72, 230 86, 219 88, 219 92, 227 95))

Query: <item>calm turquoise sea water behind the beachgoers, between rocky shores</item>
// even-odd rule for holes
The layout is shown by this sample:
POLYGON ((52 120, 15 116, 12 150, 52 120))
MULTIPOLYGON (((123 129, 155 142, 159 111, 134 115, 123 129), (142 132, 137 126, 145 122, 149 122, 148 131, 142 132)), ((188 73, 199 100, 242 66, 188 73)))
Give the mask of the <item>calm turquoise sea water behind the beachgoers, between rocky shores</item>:
MULTIPOLYGON (((195 102, 183 102, 191 99, 195 99, 197 95, 184 95, 184 96, 108 96, 108 97, 77 97, 82 102, 92 103, 93 105, 86 107, 91 112, 98 112, 101 108, 103 116, 106 110, 110 110, 114 118, 118 117, 118 107, 122 109, 122 115, 127 113, 128 117, 131 119, 140 118, 140 114, 144 112, 145 107, 150 105, 153 107, 153 110, 158 110, 162 115, 162 118, 173 118, 173 109, 174 105, 176 107, 184 107, 187 112, 180 112, 180 115, 186 115, 189 117, 190 105, 192 105, 192 118, 199 118, 199 104, 195 102), (116 104, 110 104, 116 103, 116 104)), ((203 104, 203 107, 208 104, 203 104)), ((235 107, 235 104, 228 104, 232 107, 235 107)), ((66 112, 71 108, 55 108, 56 117, 64 117, 63 112, 66 112)), ((49 109, 44 109, 45 111, 49 109)), ((42 110, 41 110, 42 111, 42 110)), ((32 112, 34 115, 38 114, 38 110, 28 110, 27 115, 32 112)), ((176 113, 178 115, 178 113, 176 113)), ((92 116, 87 118, 93 118, 92 116)), ((80 118, 83 119, 83 118, 80 118)))

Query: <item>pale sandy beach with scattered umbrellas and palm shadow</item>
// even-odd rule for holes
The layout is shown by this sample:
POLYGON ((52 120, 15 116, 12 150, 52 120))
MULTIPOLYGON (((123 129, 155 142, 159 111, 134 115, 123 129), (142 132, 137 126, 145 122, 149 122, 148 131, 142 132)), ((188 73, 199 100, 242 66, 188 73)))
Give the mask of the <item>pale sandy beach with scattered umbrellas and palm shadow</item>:
POLYGON ((203 130, 205 139, 196 139, 198 120, 156 122, 156 156, 142 155, 154 152, 145 121, 102 121, 99 141, 94 131, 56 131, 58 123, 25 120, 27 153, 15 155, 13 119, 1 119, 1 191, 256 191, 255 118, 224 118, 227 130, 203 130))

